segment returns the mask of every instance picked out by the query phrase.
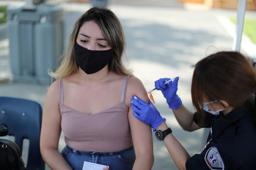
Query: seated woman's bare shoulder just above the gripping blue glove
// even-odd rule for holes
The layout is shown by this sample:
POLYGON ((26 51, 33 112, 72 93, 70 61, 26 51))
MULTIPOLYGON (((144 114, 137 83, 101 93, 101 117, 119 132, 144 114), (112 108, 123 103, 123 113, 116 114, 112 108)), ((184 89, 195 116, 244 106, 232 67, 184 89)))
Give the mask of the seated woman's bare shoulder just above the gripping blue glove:
POLYGON ((131 76, 128 80, 125 101, 128 106, 131 104, 132 96, 138 96, 141 100, 148 102, 146 89, 139 78, 131 76))

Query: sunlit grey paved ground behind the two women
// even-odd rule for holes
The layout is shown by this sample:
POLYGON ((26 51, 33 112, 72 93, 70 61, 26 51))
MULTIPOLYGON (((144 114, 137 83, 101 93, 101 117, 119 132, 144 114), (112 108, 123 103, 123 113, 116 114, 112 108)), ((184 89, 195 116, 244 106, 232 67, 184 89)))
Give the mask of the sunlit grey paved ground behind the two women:
MULTIPOLYGON (((90 8, 89 3, 55 1, 65 12, 65 44, 75 20, 90 8)), ((0 5, 23 3, 1 1, 0 5)), ((108 6, 121 20, 127 40, 125 63, 140 78, 146 90, 154 87, 154 81, 163 77, 179 76, 178 94, 183 104, 194 110, 190 85, 193 66, 198 60, 213 52, 231 50, 234 25, 228 17, 236 17, 236 10, 207 9, 201 4, 179 4, 176 0, 117 1, 108 6), (164 4, 166 3, 166 4, 164 4), (127 60, 126 60, 127 59, 127 60), (127 62, 128 61, 128 62, 127 62)), ((256 18, 256 11, 246 11, 246 18, 256 18)), ((9 66, 9 40, 6 25, 0 25, 0 95, 27 98, 44 105, 49 85, 11 82, 9 66)), ((241 52, 256 58, 256 47, 243 37, 241 52), (244 40, 245 39, 245 40, 244 40), (250 49, 247 49, 248 44, 250 49)), ((200 153, 205 136, 204 130, 185 132, 168 109, 161 92, 154 92, 156 107, 167 119, 174 136, 192 156, 200 153)), ((60 137, 60 150, 65 146, 60 137)), ((154 138, 155 163, 153 170, 177 169, 164 144, 154 138)), ((49 169, 47 167, 47 169, 49 169)))

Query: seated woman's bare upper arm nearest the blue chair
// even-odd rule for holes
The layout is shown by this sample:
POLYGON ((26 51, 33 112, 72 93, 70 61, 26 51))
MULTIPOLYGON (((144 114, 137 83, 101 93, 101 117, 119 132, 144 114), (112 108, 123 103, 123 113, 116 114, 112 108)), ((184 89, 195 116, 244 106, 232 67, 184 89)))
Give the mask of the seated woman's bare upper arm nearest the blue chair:
POLYGON ((49 87, 44 101, 40 147, 58 149, 60 138, 60 92, 59 82, 55 81, 49 87))

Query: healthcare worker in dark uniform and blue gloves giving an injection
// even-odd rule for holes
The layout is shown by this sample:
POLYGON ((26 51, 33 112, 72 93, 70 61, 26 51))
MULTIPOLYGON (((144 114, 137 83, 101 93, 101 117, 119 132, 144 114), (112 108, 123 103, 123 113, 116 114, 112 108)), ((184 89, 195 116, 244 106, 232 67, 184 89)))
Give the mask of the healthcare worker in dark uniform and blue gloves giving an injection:
POLYGON ((196 64, 191 95, 196 112, 182 105, 176 94, 176 77, 160 78, 155 82, 181 127, 194 131, 211 128, 203 151, 192 157, 172 135, 165 119, 156 107, 134 96, 133 115, 151 125, 156 138, 163 140, 174 163, 179 169, 255 169, 256 77, 250 61, 238 52, 218 52, 196 64))

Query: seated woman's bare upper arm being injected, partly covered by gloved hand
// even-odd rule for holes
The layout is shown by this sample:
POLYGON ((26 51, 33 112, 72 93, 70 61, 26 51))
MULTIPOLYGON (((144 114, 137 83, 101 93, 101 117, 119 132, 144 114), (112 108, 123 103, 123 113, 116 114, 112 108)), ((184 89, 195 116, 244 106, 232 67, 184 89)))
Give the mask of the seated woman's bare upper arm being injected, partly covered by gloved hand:
POLYGON ((132 114, 133 110, 131 107, 131 98, 134 95, 138 96, 141 100, 144 100, 146 103, 148 103, 148 95, 143 84, 138 78, 132 76, 129 78, 128 81, 125 101, 127 102, 129 108, 128 118, 132 132, 132 141, 134 144, 135 153, 139 154, 142 152, 147 152, 149 156, 150 154, 152 154, 153 156, 153 140, 151 127, 148 124, 145 124, 135 118, 132 114))

